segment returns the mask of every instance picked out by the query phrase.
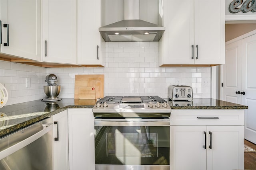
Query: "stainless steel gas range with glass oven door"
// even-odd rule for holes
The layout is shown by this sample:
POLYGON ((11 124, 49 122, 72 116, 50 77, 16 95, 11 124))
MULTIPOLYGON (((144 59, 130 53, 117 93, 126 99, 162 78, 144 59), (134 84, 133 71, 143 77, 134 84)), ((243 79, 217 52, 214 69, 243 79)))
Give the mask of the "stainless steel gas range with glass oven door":
POLYGON ((93 107, 96 170, 169 170, 170 113, 159 96, 107 96, 93 107))

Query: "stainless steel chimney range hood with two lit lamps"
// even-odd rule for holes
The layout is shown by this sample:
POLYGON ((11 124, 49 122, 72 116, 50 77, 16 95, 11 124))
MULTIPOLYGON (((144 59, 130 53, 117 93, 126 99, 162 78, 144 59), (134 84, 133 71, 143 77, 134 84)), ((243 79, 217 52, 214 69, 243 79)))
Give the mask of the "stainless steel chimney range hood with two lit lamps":
POLYGON ((140 0, 124 0, 124 20, 99 28, 106 42, 159 41, 165 27, 140 20, 140 0))

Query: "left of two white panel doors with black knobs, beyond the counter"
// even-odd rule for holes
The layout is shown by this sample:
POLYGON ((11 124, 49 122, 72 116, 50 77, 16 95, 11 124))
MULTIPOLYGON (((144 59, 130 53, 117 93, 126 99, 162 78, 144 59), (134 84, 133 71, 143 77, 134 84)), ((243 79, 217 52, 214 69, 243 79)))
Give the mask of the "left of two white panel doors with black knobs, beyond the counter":
POLYGON ((226 45, 226 61, 222 65, 222 100, 241 104, 242 40, 226 45))

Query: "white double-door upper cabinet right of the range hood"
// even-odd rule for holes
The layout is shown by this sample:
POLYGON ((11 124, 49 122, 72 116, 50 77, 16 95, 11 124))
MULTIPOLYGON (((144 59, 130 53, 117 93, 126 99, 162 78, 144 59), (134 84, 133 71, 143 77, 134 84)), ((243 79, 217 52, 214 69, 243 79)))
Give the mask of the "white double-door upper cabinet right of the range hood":
POLYGON ((164 0, 160 66, 225 62, 225 1, 209 4, 211 0, 164 0))

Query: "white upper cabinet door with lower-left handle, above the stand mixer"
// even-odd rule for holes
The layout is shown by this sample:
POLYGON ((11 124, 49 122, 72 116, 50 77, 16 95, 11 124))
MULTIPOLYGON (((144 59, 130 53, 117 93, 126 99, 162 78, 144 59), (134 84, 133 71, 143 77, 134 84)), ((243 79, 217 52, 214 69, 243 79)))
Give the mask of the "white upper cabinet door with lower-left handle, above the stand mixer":
POLYGON ((42 61, 76 64, 76 0, 42 0, 42 61))

